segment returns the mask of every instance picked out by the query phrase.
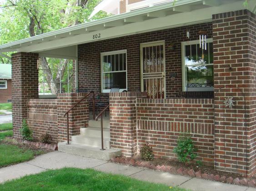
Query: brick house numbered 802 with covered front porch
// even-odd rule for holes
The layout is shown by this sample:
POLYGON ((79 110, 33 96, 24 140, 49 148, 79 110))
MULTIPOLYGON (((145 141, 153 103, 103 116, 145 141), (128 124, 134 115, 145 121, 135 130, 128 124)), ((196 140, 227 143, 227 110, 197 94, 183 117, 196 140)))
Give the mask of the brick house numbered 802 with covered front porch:
POLYGON ((14 136, 20 137, 22 119, 28 119, 35 138, 50 132, 60 150, 92 156, 100 148, 100 122, 90 119, 91 96, 70 111, 68 132, 64 117, 85 96, 83 89, 109 99, 102 132, 107 150, 96 149, 98 157, 104 155, 99 158, 120 152, 131 157, 148 142, 155 157, 176 159, 179 134, 190 132, 197 160, 254 175, 256 1, 247 8, 243 0, 134 4, 123 14, 0 46, 1 52, 17 52, 14 136), (78 91, 40 99, 39 57, 73 59, 78 91), (119 92, 110 92, 115 86, 119 92))

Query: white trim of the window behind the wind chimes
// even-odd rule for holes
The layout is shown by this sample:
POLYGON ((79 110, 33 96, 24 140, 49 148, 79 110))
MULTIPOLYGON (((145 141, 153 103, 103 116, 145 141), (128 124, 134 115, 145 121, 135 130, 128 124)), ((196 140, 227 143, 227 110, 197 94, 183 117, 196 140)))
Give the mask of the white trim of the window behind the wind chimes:
MULTIPOLYGON (((212 38, 206 39, 206 43, 212 43, 212 38)), ((182 69, 182 91, 186 91, 186 70, 185 70, 185 46, 191 44, 199 44, 199 40, 191 40, 181 42, 181 69, 182 69)), ((196 66, 201 66, 205 64, 198 64, 196 66)), ((213 64, 208 64, 209 66, 213 64)))

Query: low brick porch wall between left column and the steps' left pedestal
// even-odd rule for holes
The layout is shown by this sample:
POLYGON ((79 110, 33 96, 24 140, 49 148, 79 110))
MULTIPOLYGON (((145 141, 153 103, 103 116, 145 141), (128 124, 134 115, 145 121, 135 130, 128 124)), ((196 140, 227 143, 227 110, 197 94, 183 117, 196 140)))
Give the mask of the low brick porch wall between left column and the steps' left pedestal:
POLYGON ((28 125, 33 138, 39 139, 42 134, 49 133, 52 141, 57 143, 57 99, 29 99, 28 125))

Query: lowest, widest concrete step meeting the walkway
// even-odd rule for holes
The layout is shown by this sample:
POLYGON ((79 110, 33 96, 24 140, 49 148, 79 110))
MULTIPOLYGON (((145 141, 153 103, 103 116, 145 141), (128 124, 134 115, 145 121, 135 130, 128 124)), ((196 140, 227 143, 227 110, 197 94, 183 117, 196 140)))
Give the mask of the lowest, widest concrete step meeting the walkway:
POLYGON ((66 142, 58 143, 58 149, 64 153, 76 154, 84 157, 98 158, 102 160, 110 160, 112 157, 118 157, 121 155, 119 149, 105 149, 100 150, 97 147, 91 147, 84 144, 71 143, 69 145, 66 142))

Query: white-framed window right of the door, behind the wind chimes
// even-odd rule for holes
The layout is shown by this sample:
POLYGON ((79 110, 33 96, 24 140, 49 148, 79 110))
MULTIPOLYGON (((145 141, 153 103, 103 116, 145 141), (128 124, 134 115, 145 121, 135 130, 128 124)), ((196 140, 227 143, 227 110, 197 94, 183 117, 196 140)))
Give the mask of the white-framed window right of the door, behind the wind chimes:
MULTIPOLYGON (((212 38, 207 39, 206 50, 200 48, 199 40, 181 43, 182 90, 188 84, 213 85, 213 45, 212 38), (204 56, 202 56, 204 55, 204 56)), ((213 87, 195 88, 194 91, 214 91, 213 87)))

